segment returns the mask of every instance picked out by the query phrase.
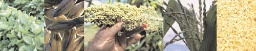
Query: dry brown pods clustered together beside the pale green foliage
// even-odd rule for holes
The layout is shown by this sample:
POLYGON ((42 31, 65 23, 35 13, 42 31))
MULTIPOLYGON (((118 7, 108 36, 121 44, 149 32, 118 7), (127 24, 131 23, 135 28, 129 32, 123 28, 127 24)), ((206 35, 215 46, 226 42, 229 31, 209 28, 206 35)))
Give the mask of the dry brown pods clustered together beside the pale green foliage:
MULTIPOLYGON (((63 1, 63 0, 62 0, 63 1)), ((83 1, 64 0, 64 2, 47 1, 52 5, 45 9, 45 43, 47 51, 82 51, 83 50, 83 1), (65 4, 73 5, 68 6, 65 4), (57 8, 55 5, 58 5, 57 8), (61 6, 68 8, 59 8, 61 6), (68 10, 67 10, 68 9, 68 10), (56 16, 56 13, 65 11, 56 16)))

